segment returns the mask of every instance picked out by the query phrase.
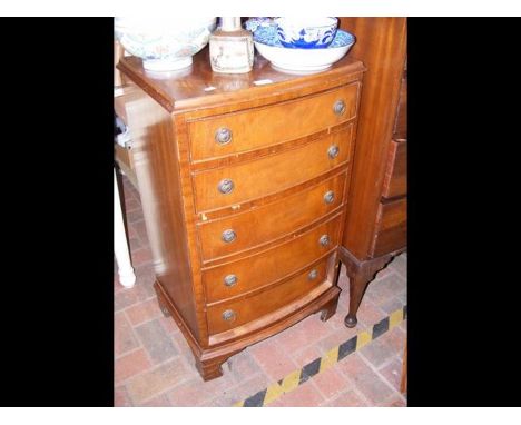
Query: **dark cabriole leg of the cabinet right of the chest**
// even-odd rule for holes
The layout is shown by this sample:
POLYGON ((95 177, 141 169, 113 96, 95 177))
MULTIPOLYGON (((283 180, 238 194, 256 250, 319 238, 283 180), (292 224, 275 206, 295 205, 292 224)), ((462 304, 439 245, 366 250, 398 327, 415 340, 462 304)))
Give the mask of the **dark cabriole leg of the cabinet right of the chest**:
POLYGON ((365 289, 374 275, 384 268, 393 258, 393 255, 385 255, 365 261, 360 261, 346 249, 341 249, 342 261, 345 263, 347 276, 350 278, 350 312, 345 316, 344 324, 347 327, 355 327, 358 323, 356 313, 364 296, 365 289))

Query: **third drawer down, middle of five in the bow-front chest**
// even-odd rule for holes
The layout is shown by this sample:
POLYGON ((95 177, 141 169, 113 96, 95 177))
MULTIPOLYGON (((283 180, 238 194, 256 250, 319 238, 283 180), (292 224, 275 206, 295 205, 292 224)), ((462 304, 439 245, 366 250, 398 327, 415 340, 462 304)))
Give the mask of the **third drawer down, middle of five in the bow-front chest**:
POLYGON ((342 205, 345 172, 275 202, 198 225, 203 259, 249 249, 312 224, 342 205), (225 233, 233 231, 233 241, 225 233))

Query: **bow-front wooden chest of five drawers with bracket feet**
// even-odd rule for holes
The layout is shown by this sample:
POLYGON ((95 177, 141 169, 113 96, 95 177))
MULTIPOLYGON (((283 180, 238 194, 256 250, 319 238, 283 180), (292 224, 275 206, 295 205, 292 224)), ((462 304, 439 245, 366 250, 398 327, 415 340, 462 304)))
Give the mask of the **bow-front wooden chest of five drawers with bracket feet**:
POLYGON ((336 310, 362 62, 215 75, 118 65, 155 289, 205 380, 246 346, 336 310))

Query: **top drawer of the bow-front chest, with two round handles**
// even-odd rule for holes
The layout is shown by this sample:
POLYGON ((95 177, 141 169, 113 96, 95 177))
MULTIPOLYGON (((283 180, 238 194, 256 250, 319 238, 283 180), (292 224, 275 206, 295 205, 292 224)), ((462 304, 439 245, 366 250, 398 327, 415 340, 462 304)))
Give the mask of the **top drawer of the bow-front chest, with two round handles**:
POLYGON ((345 122, 356 115, 357 97, 356 82, 276 106, 189 122, 191 160, 258 149, 345 122), (334 110, 340 101, 344 105, 342 113, 334 110))

